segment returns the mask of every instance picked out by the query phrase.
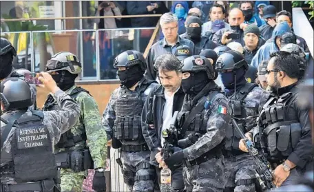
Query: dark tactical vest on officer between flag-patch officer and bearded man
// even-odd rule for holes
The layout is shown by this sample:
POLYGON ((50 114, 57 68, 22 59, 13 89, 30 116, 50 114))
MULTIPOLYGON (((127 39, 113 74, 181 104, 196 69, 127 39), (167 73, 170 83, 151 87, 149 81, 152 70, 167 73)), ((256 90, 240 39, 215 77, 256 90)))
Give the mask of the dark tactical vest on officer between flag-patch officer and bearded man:
MULTIPOLYGON (((247 95, 254 89, 254 87, 258 87, 258 85, 255 85, 254 83, 247 83, 241 87, 239 91, 229 97, 229 103, 231 104, 233 116, 235 118, 247 118, 246 108, 244 107, 244 99, 247 98, 247 95)), ((245 120, 237 120, 237 122, 243 133, 247 133, 247 131, 249 131, 246 129, 247 125, 245 125, 245 120)), ((229 123, 226 131, 224 149, 231 151, 233 156, 238 156, 244 153, 239 149, 240 140, 240 134, 238 134, 238 131, 235 130, 232 123, 229 123)))

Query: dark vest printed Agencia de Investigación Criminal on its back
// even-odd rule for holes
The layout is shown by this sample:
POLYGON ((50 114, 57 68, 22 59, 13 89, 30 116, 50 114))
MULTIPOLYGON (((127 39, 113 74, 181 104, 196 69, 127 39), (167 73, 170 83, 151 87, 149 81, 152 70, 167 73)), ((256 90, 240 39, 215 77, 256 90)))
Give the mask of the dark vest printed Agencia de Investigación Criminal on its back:
MULTIPOLYGON (((2 118, 9 119, 10 116, 4 114, 2 118)), ((56 178, 52 138, 42 121, 41 111, 32 111, 32 116, 21 116, 16 120, 14 125, 17 128, 11 141, 12 163, 11 166, 1 167, 1 177, 13 175, 18 184, 56 178)))

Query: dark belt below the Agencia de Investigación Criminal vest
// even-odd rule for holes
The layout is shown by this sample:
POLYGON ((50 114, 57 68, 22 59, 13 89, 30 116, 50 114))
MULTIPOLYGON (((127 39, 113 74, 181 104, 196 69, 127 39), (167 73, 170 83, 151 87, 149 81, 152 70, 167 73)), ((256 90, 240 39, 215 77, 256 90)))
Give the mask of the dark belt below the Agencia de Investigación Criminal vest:
POLYGON ((39 182, 28 182, 18 184, 0 184, 1 192, 10 191, 53 191, 54 181, 43 180, 39 182))

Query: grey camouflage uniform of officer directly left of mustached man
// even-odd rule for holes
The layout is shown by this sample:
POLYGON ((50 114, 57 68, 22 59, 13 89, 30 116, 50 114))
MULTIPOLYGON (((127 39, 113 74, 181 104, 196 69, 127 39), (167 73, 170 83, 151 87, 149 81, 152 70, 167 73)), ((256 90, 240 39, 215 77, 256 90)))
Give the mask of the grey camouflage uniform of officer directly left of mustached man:
MULTIPOLYGON (((114 90, 110 96, 105 111, 103 111, 103 126, 106 129, 108 140, 113 139, 113 143, 114 140, 118 138, 118 129, 121 126, 121 121, 119 122, 119 119, 127 118, 127 114, 132 110, 134 111, 134 114, 138 114, 138 116, 134 115, 132 117, 134 118, 132 126, 137 126, 133 128, 133 131, 131 131, 132 129, 126 129, 126 126, 122 129, 133 132, 133 134, 136 132, 135 130, 137 130, 138 139, 134 139, 134 136, 131 136, 131 140, 125 138, 118 139, 118 142, 121 142, 122 144, 121 162, 123 167, 123 177, 130 191, 154 191, 155 170, 149 164, 150 151, 141 131, 140 114, 149 92, 155 86, 157 86, 156 83, 151 83, 151 81, 147 81, 145 78, 142 78, 133 92, 126 87, 121 86, 114 90), (118 110, 120 110, 120 112, 118 112, 118 110), (136 118, 139 118, 138 124, 134 124, 136 118), (123 150, 125 146, 144 146, 144 148, 146 148, 137 150, 136 152, 127 152, 123 150)), ((126 123, 127 122, 124 121, 124 125, 126 123)), ((114 147, 114 144, 112 146, 114 147)))

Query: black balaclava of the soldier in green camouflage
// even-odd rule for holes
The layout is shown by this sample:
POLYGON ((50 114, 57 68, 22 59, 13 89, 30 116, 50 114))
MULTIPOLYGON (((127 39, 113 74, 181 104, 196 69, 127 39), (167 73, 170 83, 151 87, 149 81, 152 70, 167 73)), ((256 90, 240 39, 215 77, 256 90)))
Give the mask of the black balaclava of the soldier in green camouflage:
POLYGON ((71 74, 67 70, 57 71, 58 74, 52 74, 52 78, 56 81, 56 85, 65 92, 70 89, 74 83, 78 74, 71 74))

